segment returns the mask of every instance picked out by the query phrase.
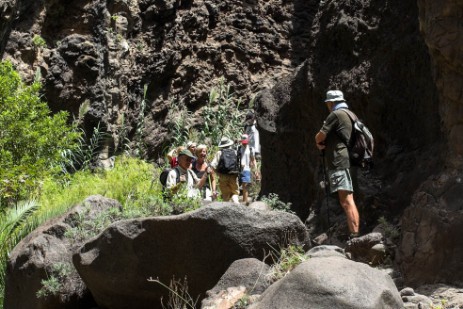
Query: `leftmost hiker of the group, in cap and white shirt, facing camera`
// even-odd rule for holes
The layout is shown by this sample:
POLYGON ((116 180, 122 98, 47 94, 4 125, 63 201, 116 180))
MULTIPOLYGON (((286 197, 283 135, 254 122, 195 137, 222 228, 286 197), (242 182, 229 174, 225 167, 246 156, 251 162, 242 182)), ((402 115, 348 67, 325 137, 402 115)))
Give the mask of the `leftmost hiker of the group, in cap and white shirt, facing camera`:
POLYGON ((195 156, 188 149, 179 152, 177 160, 178 166, 173 168, 167 175, 166 188, 170 190, 170 194, 177 194, 180 189, 185 188, 187 197, 201 197, 201 189, 206 183, 207 176, 212 172, 211 168, 207 168, 203 177, 198 178, 191 170, 191 162, 195 156))

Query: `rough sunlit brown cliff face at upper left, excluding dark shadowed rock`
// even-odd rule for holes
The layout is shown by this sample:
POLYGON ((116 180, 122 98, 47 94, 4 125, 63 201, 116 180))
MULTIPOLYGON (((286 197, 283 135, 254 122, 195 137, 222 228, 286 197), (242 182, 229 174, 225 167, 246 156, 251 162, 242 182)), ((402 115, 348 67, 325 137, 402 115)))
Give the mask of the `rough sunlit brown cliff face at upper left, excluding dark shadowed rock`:
POLYGON ((169 109, 196 111, 220 77, 247 102, 303 60, 310 5, 300 2, 11 0, 0 51, 28 79, 40 70, 53 110, 89 104, 85 122, 102 122, 109 146, 144 114, 154 155, 169 138, 169 109))

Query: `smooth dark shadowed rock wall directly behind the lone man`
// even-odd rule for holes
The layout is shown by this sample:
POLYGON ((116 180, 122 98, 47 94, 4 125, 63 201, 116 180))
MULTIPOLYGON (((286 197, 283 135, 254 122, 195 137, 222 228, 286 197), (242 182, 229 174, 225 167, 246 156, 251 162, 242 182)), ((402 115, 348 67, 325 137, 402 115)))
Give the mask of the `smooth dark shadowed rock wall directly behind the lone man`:
POLYGON ((370 225, 381 213, 400 213, 442 162, 437 89, 416 4, 320 2, 311 38, 304 64, 256 99, 261 194, 291 201, 301 218, 323 196, 314 136, 328 114, 325 93, 335 88, 376 139, 375 168, 359 175, 362 218, 370 225))

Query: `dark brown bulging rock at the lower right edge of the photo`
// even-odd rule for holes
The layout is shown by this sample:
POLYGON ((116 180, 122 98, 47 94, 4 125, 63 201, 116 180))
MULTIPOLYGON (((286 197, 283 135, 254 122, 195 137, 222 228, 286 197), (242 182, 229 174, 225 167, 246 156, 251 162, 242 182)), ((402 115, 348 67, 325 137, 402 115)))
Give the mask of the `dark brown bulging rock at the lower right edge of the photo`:
POLYGON ((398 264, 407 285, 462 284, 463 183, 450 171, 425 182, 401 221, 398 264))

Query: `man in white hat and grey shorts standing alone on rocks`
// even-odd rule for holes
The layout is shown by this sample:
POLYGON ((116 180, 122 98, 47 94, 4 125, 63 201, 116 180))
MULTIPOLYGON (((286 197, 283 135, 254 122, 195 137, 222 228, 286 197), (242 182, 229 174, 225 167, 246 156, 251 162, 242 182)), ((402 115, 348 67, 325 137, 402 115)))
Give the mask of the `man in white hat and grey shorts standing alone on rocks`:
POLYGON ((330 114, 315 135, 317 148, 326 155, 330 192, 338 192, 339 203, 347 217, 349 238, 359 235, 359 213, 354 201, 350 161, 347 145, 352 133, 352 121, 343 109, 348 109, 344 95, 339 90, 326 93, 325 104, 330 114))

